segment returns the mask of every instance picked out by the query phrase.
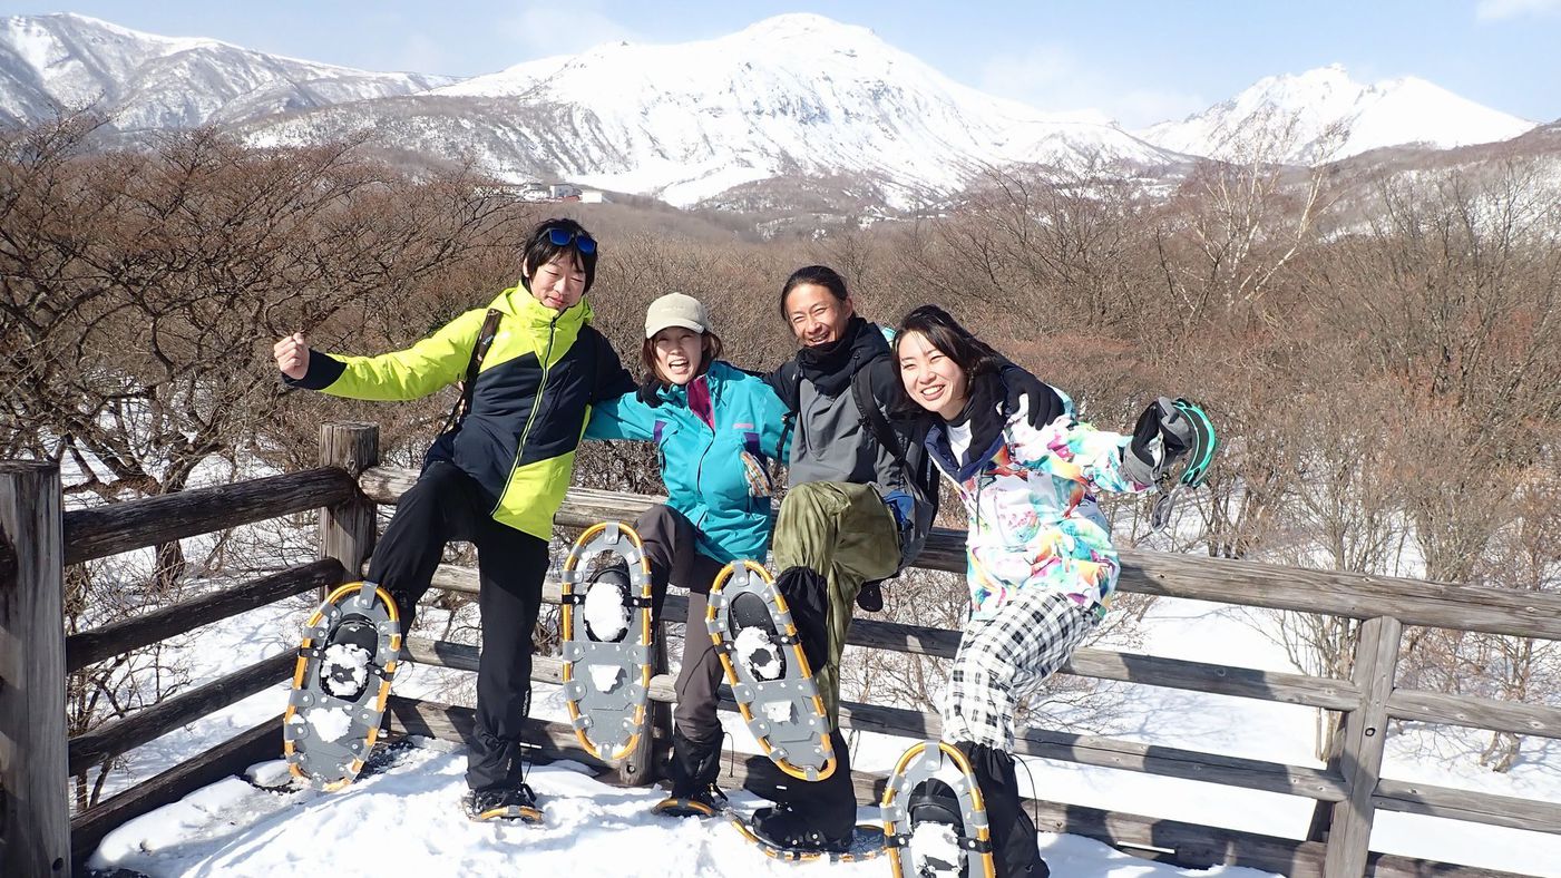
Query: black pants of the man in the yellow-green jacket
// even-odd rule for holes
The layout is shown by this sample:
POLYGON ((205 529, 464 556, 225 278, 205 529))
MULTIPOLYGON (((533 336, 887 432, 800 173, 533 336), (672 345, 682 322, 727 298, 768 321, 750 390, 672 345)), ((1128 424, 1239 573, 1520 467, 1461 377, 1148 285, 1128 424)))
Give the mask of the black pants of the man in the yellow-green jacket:
POLYGON ((478 658, 476 742, 467 761, 471 789, 512 787, 524 776, 520 736, 531 706, 531 634, 548 573, 548 544, 495 522, 493 501, 476 480, 436 461, 401 495, 368 562, 368 580, 396 600, 411 631, 446 542, 478 547, 482 651, 478 658))

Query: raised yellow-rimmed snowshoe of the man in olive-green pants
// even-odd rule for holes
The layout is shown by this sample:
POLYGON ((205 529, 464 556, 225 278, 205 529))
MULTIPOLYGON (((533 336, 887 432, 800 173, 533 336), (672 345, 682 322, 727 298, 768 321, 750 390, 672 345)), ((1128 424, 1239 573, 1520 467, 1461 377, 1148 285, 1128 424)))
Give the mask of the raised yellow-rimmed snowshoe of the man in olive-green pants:
POLYGON ((765 755, 793 778, 820 781, 835 773, 829 716, 770 572, 752 561, 721 569, 710 586, 706 626, 737 709, 765 755))

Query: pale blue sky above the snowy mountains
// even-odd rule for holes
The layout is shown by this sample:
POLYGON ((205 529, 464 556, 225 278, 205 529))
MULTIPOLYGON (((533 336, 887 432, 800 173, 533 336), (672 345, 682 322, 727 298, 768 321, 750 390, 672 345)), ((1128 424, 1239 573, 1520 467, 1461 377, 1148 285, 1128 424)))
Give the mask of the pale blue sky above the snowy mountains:
POLYGON ((1539 122, 1561 117, 1561 0, 790 2, 6 2, 167 36, 373 70, 476 75, 598 42, 682 42, 780 12, 873 28, 951 78, 1127 127, 1177 119, 1261 77, 1344 64, 1358 81, 1414 75, 1539 122))

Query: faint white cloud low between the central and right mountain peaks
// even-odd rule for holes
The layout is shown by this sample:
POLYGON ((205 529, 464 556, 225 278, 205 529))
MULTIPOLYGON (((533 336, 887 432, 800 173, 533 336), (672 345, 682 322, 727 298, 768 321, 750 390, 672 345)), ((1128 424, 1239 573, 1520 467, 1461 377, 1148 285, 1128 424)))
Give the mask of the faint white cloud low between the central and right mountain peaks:
POLYGON ((1057 45, 991 56, 979 87, 1046 112, 1113 119, 1127 130, 1182 119, 1210 103, 1193 92, 1130 87, 1057 45))

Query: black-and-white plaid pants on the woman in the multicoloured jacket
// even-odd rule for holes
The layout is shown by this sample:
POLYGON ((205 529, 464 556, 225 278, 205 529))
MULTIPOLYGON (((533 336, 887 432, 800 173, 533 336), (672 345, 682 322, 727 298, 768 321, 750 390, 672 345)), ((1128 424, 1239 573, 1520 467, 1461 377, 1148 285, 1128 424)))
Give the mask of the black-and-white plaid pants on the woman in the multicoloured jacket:
POLYGON ((971 620, 943 698, 943 741, 1013 751, 1013 708, 1051 676, 1096 625, 1058 589, 1019 589, 997 614, 971 620))

